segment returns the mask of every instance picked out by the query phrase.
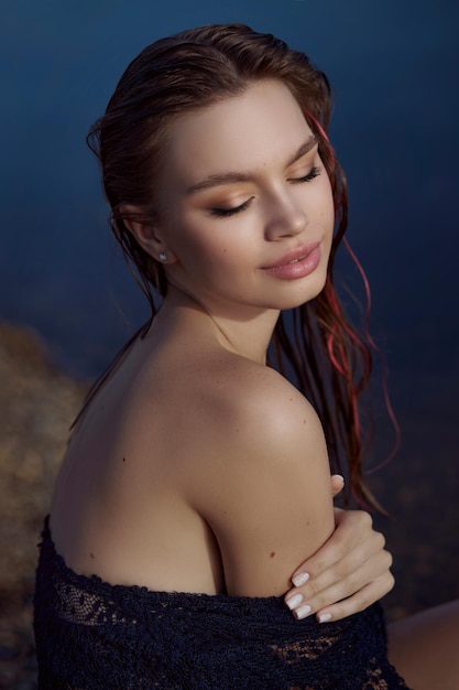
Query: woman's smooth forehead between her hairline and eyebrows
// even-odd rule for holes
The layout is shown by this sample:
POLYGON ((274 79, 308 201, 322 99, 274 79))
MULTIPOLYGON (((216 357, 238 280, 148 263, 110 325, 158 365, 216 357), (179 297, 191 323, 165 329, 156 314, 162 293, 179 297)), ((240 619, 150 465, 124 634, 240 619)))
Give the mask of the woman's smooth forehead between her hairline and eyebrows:
POLYGON ((285 161, 310 134, 286 86, 256 82, 241 95, 177 119, 167 137, 165 172, 193 183, 222 170, 259 170, 285 161))

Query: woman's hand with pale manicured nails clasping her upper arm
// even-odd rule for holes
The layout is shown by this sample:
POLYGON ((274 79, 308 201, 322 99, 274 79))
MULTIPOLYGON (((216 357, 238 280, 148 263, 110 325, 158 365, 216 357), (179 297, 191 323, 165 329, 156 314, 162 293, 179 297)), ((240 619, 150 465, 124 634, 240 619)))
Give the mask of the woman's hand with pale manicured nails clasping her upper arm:
MULTIPOLYGON (((334 475, 334 496, 342 486, 342 477, 334 475)), ((295 586, 285 603, 297 618, 315 613, 319 623, 339 621, 363 611, 394 586, 392 556, 384 549, 383 535, 373 529, 371 516, 335 508, 335 522, 328 541, 293 573, 295 586)))

